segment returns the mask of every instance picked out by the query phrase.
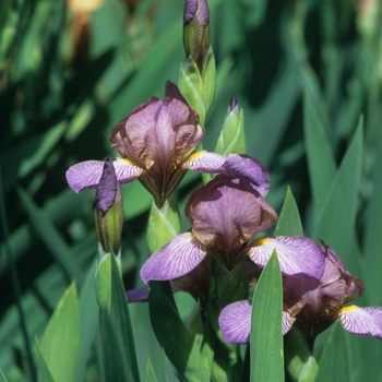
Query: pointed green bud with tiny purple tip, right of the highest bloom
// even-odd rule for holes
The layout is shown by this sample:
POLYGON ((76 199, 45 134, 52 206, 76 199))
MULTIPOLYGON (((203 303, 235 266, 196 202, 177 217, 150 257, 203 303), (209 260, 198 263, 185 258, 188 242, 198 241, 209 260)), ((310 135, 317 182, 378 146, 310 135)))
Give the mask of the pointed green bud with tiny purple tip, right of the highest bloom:
POLYGON ((244 114, 232 95, 215 153, 222 155, 246 153, 244 114))

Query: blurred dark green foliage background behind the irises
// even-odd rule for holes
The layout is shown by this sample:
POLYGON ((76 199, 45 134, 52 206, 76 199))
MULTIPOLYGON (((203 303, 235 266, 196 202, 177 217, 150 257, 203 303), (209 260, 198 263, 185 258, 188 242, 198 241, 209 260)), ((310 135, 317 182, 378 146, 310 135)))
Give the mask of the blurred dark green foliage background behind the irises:
MULTIPOLYGON (((279 212, 290 186, 305 234, 323 239, 363 279, 360 305, 382 305, 380 2, 208 3, 217 88, 204 147, 214 150, 235 94, 246 114, 248 154, 271 174, 270 204, 279 212)), ((111 128, 151 96, 163 97, 166 80, 177 82, 182 11, 181 0, 0 3, 0 368, 10 381, 31 380, 34 337, 41 338, 70 282, 81 295, 94 272, 94 191, 76 195, 64 172, 115 156, 111 128)), ((181 206, 199 184, 187 175, 181 206)), ((122 189, 123 280, 131 289, 142 285, 148 254, 151 195, 139 182, 122 189)), ((131 307, 140 371, 150 356, 159 378, 163 356, 146 310, 131 307)), ((382 381, 377 339, 336 325, 321 337, 332 344, 323 357, 326 381, 382 381)), ((96 357, 91 350, 79 379, 98 380, 96 357)))

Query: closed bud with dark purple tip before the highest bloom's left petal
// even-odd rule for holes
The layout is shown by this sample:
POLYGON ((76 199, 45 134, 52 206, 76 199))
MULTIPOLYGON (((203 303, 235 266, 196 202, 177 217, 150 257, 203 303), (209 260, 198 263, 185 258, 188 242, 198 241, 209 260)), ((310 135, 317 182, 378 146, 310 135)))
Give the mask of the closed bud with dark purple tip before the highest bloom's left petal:
POLYGON ((97 240, 104 254, 119 254, 122 235, 122 195, 112 159, 106 159, 95 200, 97 240))

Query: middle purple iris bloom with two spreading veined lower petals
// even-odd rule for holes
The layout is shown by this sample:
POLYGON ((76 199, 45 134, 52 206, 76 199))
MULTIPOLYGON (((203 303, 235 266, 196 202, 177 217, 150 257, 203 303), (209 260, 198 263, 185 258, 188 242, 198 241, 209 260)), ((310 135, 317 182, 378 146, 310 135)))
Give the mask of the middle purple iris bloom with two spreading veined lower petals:
POLYGON ((234 154, 224 168, 225 174, 191 194, 186 205, 191 231, 178 235, 144 263, 143 282, 183 276, 207 255, 228 270, 247 256, 264 266, 274 249, 284 274, 320 278, 323 256, 313 241, 301 237, 252 240, 277 222, 277 214, 263 199, 270 184, 265 168, 253 158, 234 154))

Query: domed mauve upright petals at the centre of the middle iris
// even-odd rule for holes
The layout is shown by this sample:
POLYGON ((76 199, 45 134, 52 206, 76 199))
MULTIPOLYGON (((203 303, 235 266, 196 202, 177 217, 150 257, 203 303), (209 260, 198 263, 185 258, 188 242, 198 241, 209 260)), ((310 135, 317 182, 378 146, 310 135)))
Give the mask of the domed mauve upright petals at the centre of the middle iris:
POLYGON ((191 194, 186 215, 195 237, 207 249, 231 256, 234 263, 253 235, 277 220, 273 208, 247 182, 224 175, 191 194))

